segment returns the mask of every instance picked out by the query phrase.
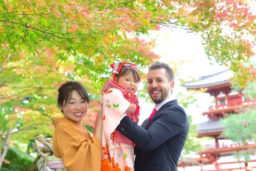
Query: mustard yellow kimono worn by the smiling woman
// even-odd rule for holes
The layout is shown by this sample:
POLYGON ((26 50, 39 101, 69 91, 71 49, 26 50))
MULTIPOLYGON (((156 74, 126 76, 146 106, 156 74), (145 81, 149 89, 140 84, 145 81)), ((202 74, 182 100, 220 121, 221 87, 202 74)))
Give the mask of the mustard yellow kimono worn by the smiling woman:
POLYGON ((101 142, 77 122, 68 118, 53 121, 53 151, 69 171, 100 171, 101 142))

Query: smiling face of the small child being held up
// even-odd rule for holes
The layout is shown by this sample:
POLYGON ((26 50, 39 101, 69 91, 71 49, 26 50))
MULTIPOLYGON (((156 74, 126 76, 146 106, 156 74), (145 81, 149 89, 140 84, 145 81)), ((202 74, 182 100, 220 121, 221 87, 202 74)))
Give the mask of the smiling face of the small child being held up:
POLYGON ((124 89, 131 91, 132 93, 135 93, 138 89, 139 82, 134 80, 133 73, 130 72, 129 74, 118 77, 117 83, 124 89))

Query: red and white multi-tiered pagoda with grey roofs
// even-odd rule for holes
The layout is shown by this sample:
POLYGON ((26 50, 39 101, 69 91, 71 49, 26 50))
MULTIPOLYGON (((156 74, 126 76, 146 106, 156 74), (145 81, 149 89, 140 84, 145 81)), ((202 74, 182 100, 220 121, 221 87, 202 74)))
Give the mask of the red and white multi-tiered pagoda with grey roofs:
POLYGON ((197 127, 198 137, 212 137, 214 140, 204 144, 204 149, 191 160, 180 160, 179 170, 256 170, 255 142, 247 141, 245 144, 240 144, 222 135, 225 127, 220 124, 220 118, 227 117, 227 114, 238 114, 244 108, 256 106, 255 101, 244 96, 243 90, 232 89, 231 77, 231 71, 225 70, 202 76, 195 82, 183 85, 187 90, 204 89, 205 93, 214 96, 215 105, 209 106, 209 110, 202 113, 208 121, 200 123, 197 127), (250 160, 245 161, 243 157, 238 156, 238 152, 247 150, 254 152, 254 155, 250 156, 250 160))

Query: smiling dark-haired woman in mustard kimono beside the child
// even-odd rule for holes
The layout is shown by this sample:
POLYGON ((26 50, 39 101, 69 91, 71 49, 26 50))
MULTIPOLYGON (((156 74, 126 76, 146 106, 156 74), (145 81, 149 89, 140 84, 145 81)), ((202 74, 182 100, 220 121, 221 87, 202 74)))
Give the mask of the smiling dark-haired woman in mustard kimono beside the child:
MULTIPOLYGON (((68 170, 99 171, 101 167, 102 112, 99 112, 95 136, 82 125, 90 97, 77 81, 67 81, 58 90, 58 106, 63 118, 53 121, 54 155, 68 170)), ((102 108, 100 109, 102 110, 102 108)))

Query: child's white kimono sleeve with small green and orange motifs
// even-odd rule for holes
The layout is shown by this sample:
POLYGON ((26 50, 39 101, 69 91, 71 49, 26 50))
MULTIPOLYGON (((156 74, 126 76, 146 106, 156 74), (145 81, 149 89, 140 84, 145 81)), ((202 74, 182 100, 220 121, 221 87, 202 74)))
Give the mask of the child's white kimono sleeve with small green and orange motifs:
POLYGON ((103 95, 103 132, 107 137, 115 131, 130 104, 116 88, 110 88, 105 92, 103 95))

